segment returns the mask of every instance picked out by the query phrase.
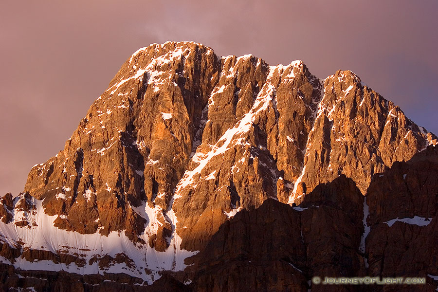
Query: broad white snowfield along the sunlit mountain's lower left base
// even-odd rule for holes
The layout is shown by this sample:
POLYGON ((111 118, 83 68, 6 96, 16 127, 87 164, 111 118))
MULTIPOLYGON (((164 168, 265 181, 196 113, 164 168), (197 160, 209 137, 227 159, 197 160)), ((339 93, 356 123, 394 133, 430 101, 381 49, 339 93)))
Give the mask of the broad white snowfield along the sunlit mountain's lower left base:
MULTIPOLYGON (((89 191, 86 195, 90 194, 89 191)), ((182 271, 186 265, 184 259, 193 256, 197 252, 189 252, 181 249, 181 237, 173 229, 172 238, 169 240, 170 247, 164 252, 158 252, 149 246, 148 238, 151 233, 158 229, 158 208, 150 208, 146 202, 140 207, 132 207, 135 212, 140 213, 147 218, 147 226, 144 234, 140 237, 146 244, 134 244, 126 236, 125 230, 119 232, 112 231, 108 236, 102 236, 99 233, 80 234, 73 231, 58 229, 53 226, 54 220, 58 217, 49 216, 44 213, 42 200, 32 198, 37 212, 29 212, 28 221, 37 223, 37 226, 31 225, 31 228, 16 228, 13 223, 5 224, 0 221, 0 234, 5 241, 13 246, 18 240, 25 242, 23 248, 35 250, 46 250, 56 253, 58 250, 66 251, 69 254, 78 254, 85 260, 83 267, 77 266, 74 262, 69 265, 63 263, 54 263, 50 260, 40 260, 29 262, 22 257, 17 257, 13 264, 16 269, 21 270, 42 270, 42 271, 66 271, 76 274, 102 274, 102 273, 125 273, 135 277, 142 278, 148 284, 151 284, 160 278, 160 271, 182 271), (154 226, 152 226, 156 223, 154 226), (115 257, 119 253, 124 253, 132 260, 132 267, 125 263, 115 264, 109 268, 101 268, 98 262, 89 264, 93 256, 109 255, 115 257), (152 271, 152 274, 146 274, 145 269, 152 271)), ((173 210, 167 211, 166 216, 172 222, 172 225, 178 222, 173 210)), ((65 215, 59 216, 66 218, 65 215)), ((0 261, 5 261, 0 258, 0 261)), ((8 263, 8 262, 7 262, 8 263)))

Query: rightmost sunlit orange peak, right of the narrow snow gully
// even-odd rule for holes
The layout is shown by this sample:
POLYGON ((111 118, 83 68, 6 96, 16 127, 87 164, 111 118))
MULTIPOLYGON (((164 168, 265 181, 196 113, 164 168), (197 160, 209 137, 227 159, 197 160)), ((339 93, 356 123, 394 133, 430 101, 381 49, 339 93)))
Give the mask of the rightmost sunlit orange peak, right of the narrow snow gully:
MULTIPOLYGON (((425 133, 350 71, 338 71, 324 80, 316 114, 298 179, 307 192, 345 174, 365 195, 373 174, 437 143, 435 135, 425 133)), ((299 202, 306 193, 298 190, 292 201, 299 202)))

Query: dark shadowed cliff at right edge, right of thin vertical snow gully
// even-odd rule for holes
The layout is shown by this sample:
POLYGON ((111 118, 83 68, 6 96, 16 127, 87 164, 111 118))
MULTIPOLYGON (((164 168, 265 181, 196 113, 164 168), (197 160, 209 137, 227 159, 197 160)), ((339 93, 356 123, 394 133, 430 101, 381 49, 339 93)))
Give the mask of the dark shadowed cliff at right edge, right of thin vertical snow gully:
POLYGON ((376 175, 367 202, 370 274, 424 276, 438 287, 434 280, 438 275, 438 147, 429 146, 411 160, 394 163, 389 171, 376 175))

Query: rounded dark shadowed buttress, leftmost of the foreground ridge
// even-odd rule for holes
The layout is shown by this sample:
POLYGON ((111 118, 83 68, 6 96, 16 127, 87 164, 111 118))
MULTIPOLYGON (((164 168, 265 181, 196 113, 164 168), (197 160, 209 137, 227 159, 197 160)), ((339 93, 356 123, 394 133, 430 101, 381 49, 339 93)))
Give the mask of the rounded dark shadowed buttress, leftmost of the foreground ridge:
POLYGON ((194 291, 307 291, 299 213, 273 199, 238 212, 195 256, 194 291))

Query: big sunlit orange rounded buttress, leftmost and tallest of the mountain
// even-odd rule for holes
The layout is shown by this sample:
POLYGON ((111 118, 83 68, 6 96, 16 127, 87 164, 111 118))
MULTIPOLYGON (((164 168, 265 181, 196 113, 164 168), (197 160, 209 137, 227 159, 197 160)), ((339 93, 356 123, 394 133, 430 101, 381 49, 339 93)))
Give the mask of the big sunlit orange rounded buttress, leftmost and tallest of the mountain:
POLYGON ((67 230, 126 230, 137 240, 146 219, 131 207, 143 201, 167 225, 172 189, 185 170, 219 65, 210 48, 194 43, 138 51, 64 150, 32 169, 25 190, 44 200, 47 214, 67 216, 57 222, 67 230))

